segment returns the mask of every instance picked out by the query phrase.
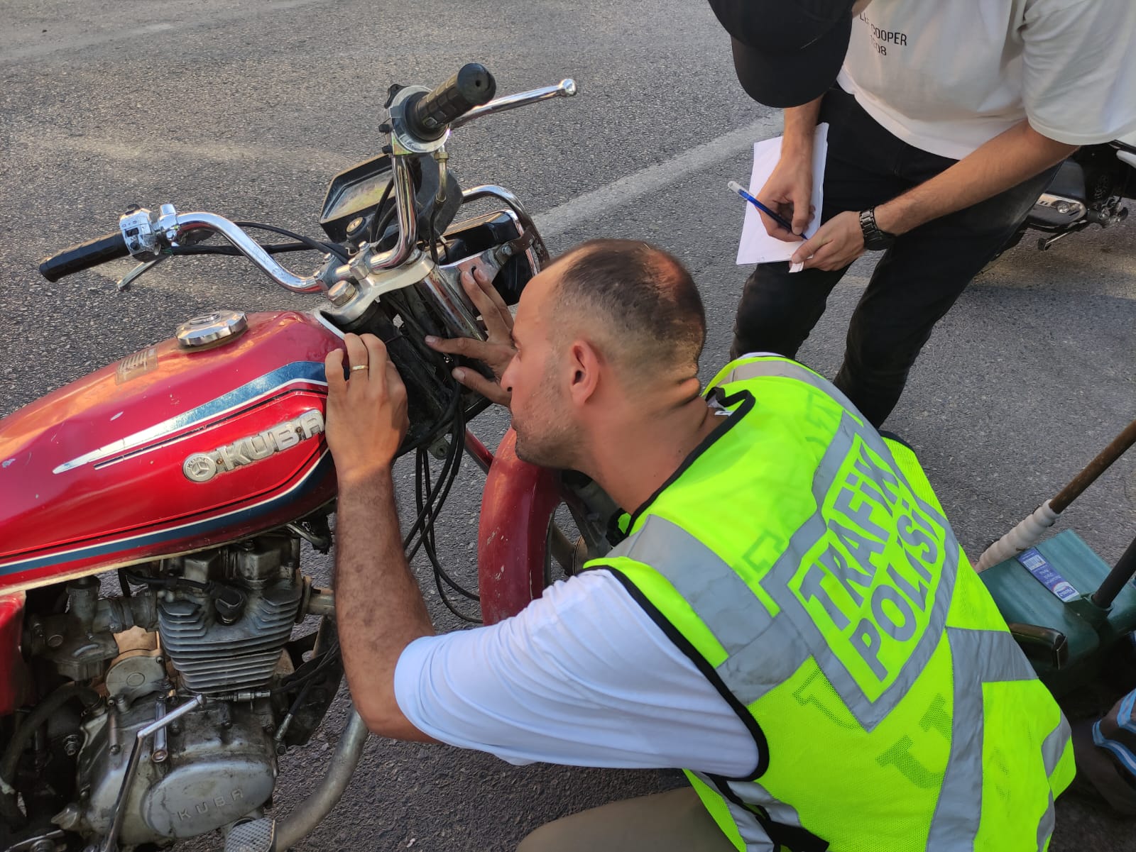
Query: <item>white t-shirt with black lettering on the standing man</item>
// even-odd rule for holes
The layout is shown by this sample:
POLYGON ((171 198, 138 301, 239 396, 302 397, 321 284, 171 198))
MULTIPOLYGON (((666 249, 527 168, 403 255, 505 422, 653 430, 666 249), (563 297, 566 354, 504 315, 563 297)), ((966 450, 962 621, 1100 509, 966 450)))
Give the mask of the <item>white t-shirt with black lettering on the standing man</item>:
POLYGON ((872 0, 837 82, 942 157, 1024 118, 1058 142, 1109 142, 1136 129, 1136 0, 872 0))

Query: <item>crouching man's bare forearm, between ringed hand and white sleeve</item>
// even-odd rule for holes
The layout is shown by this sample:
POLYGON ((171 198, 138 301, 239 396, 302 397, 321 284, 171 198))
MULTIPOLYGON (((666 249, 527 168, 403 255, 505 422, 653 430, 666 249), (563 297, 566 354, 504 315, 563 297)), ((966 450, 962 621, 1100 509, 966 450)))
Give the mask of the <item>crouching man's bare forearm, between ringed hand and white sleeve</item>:
POLYGON ((375 733, 427 740, 394 700, 399 655, 434 629, 402 551, 390 470, 340 480, 335 532, 335 610, 356 709, 375 733))

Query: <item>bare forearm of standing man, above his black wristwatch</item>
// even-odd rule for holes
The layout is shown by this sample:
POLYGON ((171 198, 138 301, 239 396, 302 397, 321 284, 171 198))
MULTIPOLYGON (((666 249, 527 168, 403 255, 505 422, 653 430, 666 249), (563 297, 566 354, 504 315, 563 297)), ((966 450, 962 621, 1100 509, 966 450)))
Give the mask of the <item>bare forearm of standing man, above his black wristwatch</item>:
POLYGON ((1017 186, 1076 150, 1022 121, 930 180, 878 205, 876 223, 889 234, 904 234, 1017 186))

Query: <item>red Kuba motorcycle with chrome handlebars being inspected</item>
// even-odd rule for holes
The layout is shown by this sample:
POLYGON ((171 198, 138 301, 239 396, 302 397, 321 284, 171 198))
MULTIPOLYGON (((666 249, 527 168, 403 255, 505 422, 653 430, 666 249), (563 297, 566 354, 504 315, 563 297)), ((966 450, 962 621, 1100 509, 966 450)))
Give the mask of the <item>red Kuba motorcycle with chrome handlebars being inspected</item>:
POLYGON ((462 270, 490 271, 512 304, 548 261, 520 201, 499 186, 462 191, 445 145, 468 121, 575 84, 494 90, 478 65, 434 91, 392 86, 382 153, 328 186, 326 239, 164 204, 40 267, 55 281, 133 255, 127 287, 173 256, 240 254, 331 304, 191 319, 176 339, 0 420, 0 850, 156 849, 218 828, 226 850, 284 850, 335 804, 367 736, 353 712, 308 801, 287 819, 265 816, 277 754, 308 742, 343 675, 333 594, 302 574, 300 554, 301 542, 332 546, 323 361, 349 331, 381 337, 406 381, 418 514, 404 543, 426 550, 440 588, 450 580, 433 524, 463 453, 487 472, 486 623, 538 596, 553 558, 571 572, 607 549, 610 501, 520 462, 511 432, 486 449, 466 423, 487 403, 423 341, 484 339, 462 270), (454 221, 478 200, 500 206, 454 221), (257 229, 289 242, 258 243, 257 229), (306 277, 275 259, 311 250, 323 264, 306 277), (561 504, 576 543, 553 522, 561 504), (99 577, 115 573, 117 592, 99 577), (310 615, 318 630, 299 635, 310 615))

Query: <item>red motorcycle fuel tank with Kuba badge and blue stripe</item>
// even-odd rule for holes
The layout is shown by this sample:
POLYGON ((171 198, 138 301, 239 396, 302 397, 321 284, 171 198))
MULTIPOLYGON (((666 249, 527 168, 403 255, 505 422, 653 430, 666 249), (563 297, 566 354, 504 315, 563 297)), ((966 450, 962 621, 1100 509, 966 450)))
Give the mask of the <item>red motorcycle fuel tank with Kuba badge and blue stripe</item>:
POLYGON ((217 319, 183 326, 197 346, 157 344, 0 420, 0 593, 224 545, 334 497, 323 362, 342 338, 287 311, 243 331, 237 314, 214 340, 217 319))

